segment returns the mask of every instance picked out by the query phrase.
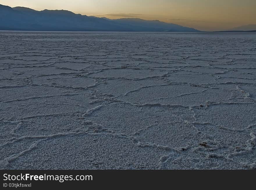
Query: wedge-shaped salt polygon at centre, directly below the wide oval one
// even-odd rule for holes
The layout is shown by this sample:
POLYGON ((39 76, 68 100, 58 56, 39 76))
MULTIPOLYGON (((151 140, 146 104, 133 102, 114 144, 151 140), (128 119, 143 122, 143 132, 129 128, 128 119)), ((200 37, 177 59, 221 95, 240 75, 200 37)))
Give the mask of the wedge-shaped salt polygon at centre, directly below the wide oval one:
POLYGON ((188 108, 179 106, 113 103, 107 106, 97 106, 87 111, 83 117, 86 120, 102 124, 107 129, 113 130, 116 133, 133 134, 139 129, 150 126, 152 123, 191 120, 193 119, 193 114, 188 108), (184 111, 187 115, 184 114, 184 111), (139 119, 141 117, 144 119, 139 119))

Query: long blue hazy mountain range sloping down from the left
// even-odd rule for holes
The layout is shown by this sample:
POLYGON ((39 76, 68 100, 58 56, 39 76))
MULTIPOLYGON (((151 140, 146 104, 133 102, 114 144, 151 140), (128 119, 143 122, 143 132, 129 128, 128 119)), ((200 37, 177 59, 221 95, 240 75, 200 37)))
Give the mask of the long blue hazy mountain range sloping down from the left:
POLYGON ((0 30, 199 32, 194 28, 142 19, 107 19, 68 10, 37 11, 0 5, 0 30))

